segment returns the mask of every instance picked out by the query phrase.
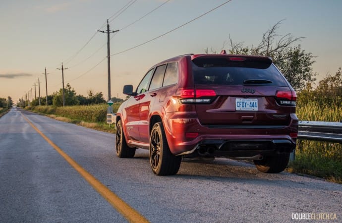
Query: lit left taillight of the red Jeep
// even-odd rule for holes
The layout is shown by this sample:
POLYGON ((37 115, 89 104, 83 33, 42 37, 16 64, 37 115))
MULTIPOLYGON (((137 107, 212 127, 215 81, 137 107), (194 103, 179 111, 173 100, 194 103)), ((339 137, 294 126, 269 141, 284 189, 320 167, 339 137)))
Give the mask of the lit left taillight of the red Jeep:
POLYGON ((216 93, 212 89, 187 89, 180 88, 176 95, 180 97, 181 104, 208 104, 214 101, 216 93))

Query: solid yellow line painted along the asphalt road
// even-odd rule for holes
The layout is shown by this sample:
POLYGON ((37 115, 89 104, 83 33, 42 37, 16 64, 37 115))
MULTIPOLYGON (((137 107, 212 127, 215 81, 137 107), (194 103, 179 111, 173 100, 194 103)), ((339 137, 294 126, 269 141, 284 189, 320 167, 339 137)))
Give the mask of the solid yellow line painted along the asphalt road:
POLYGON ((77 164, 71 157, 64 153, 53 141, 51 141, 46 135, 44 135, 29 119, 27 119, 22 113, 24 119, 62 156, 71 167, 77 170, 84 179, 88 181, 94 189, 99 192, 128 222, 132 223, 148 223, 144 216, 140 215, 136 210, 125 203, 121 198, 114 194, 108 187, 103 185, 87 170, 77 164))

